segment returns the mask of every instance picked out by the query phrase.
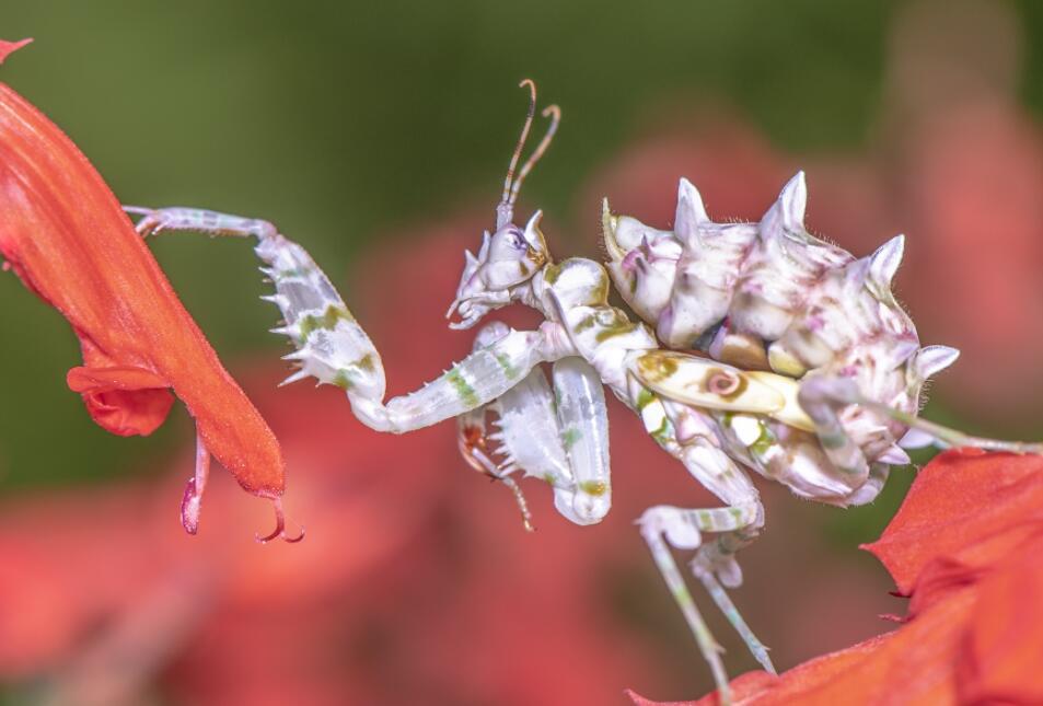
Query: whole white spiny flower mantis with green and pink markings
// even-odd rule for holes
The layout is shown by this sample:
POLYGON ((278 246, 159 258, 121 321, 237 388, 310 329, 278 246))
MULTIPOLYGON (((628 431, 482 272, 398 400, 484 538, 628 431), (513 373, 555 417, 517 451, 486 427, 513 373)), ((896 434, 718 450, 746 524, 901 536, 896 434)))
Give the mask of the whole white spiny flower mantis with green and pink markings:
POLYGON ((793 177, 758 223, 714 223, 695 187, 681 181, 673 231, 616 216, 604 206, 606 268, 584 258, 555 263, 540 230, 524 228, 513 205, 524 177, 546 150, 551 127, 517 180, 514 169, 535 109, 535 88, 513 153, 494 233, 465 255, 449 315, 475 326, 513 302, 538 311, 535 331, 484 327, 474 351, 420 390, 384 402, 380 354, 311 256, 265 221, 197 209, 139 209, 142 234, 198 230, 254 235, 263 271, 282 312, 275 332, 297 350, 300 370, 344 389, 355 415, 379 431, 402 433, 459 418, 460 448, 478 471, 505 481, 529 511, 511 474, 551 484, 555 507, 577 524, 599 522, 611 506, 606 385, 642 420, 658 444, 681 461, 725 507, 657 506, 640 518, 642 536, 710 664, 722 701, 728 678, 671 547, 695 551, 694 575, 774 672, 723 587, 742 574, 735 553, 764 524, 746 470, 795 494, 833 505, 872 500, 905 443, 969 444, 1015 451, 1036 447, 977 439, 916 417, 925 380, 957 351, 920 348, 912 321, 891 294, 902 256, 895 238, 856 259, 810 235, 806 187, 793 177), (610 278, 611 273, 611 278, 610 278), (654 331, 609 304, 610 285, 654 331), (687 352, 687 351, 694 352, 687 352), (548 383, 540 363, 551 362, 548 383), (488 431, 487 415, 498 417, 488 431), (705 533, 715 533, 712 541, 705 533))

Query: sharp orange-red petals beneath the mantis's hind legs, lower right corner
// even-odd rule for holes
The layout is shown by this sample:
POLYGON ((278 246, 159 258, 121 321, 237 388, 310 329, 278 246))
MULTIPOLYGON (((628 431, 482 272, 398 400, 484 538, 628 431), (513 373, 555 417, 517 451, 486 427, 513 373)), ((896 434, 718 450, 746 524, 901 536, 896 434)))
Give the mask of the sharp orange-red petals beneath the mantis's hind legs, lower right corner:
POLYGON ((941 454, 866 548, 912 599, 902 627, 778 679, 744 674, 737 703, 1043 703, 1043 458, 941 454))

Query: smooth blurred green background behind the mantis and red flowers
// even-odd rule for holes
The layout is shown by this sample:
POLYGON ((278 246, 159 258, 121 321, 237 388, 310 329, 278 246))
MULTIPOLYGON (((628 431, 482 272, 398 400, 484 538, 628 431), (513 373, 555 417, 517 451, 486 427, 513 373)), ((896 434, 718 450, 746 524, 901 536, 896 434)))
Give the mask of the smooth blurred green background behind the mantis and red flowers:
MULTIPOLYGON (((541 101, 564 111, 559 137, 523 200, 553 216, 557 254, 593 254, 596 232, 579 225, 577 199, 628 144, 669 121, 667 114, 727 105, 786 153, 871 151, 889 37, 905 7, 811 0, 4 5, 2 36, 36 42, 0 68, 0 79, 69 132, 121 200, 278 223, 343 285, 363 322, 381 315, 380 303, 354 298, 346 273, 376 241, 394 238, 407 250, 410 231, 475 205, 491 217, 525 107, 520 79, 533 78, 541 101)), ((1020 32, 1016 100, 1036 120, 1043 4, 1003 7, 1020 32)), ((814 194, 812 183, 812 201, 814 194)), ((256 299, 264 289, 242 242, 167 238, 152 247, 233 371, 236 360, 283 352, 266 333, 273 312, 256 299)), ((79 360, 65 321, 13 276, 0 277, 0 327, 8 332, 0 352, 7 371, 0 493, 39 493, 149 467, 158 473, 159 460, 189 438, 179 406, 176 423, 151 438, 116 438, 96 427, 65 385, 66 370, 79 360)), ((930 316, 913 313, 917 321, 930 316)), ((997 435, 1039 432, 1023 418, 997 423, 974 405, 947 404, 945 390, 928 414, 997 435)), ((902 474, 870 508, 815 514, 823 541, 846 552, 872 539, 908 478, 902 474)))

